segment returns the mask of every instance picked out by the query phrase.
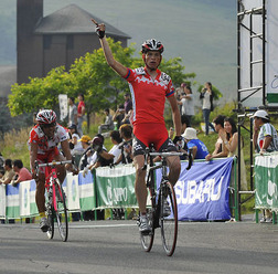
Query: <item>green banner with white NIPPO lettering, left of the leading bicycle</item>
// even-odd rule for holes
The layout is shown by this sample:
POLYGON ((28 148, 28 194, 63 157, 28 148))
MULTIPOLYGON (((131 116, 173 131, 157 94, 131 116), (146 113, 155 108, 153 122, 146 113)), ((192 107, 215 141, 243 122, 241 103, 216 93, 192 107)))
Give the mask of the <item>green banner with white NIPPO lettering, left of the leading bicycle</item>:
POLYGON ((132 165, 125 168, 96 169, 96 193, 98 208, 137 207, 135 194, 136 170, 132 165))

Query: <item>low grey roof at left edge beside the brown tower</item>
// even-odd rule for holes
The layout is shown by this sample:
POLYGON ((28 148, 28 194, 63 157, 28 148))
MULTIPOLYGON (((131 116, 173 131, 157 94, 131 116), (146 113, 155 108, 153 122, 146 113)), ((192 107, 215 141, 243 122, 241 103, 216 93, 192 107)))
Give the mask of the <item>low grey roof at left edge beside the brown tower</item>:
POLYGON ((11 85, 17 83, 17 66, 0 66, 0 97, 8 97, 11 94, 11 85))

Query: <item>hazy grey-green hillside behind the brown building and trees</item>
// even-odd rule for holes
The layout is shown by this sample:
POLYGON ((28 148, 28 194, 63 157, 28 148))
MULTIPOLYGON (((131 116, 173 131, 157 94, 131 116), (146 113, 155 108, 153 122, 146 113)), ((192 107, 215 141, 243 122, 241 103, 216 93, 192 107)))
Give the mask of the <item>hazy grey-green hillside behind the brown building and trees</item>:
MULTIPOLYGON (((143 40, 161 40, 165 59, 181 56, 197 82, 211 81, 224 101, 236 97, 235 0, 44 0, 44 15, 70 3, 129 34, 138 52, 143 40)), ((0 1, 0 64, 17 62, 15 7, 15 0, 0 1)))

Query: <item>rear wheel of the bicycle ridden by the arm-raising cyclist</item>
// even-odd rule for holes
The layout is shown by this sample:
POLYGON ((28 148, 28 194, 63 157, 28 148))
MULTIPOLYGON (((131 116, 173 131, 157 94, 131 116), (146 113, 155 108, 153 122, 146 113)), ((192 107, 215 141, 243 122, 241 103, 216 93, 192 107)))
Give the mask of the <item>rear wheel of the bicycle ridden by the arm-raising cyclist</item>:
POLYGON ((140 240, 141 240, 141 244, 142 247, 146 252, 150 252, 152 244, 153 244, 153 239, 154 239, 154 226, 153 226, 153 218, 154 218, 154 199, 152 199, 152 192, 149 189, 150 192, 150 199, 151 199, 151 208, 148 209, 147 214, 148 214, 148 219, 149 219, 149 225, 151 228, 151 232, 147 235, 140 233, 140 240))

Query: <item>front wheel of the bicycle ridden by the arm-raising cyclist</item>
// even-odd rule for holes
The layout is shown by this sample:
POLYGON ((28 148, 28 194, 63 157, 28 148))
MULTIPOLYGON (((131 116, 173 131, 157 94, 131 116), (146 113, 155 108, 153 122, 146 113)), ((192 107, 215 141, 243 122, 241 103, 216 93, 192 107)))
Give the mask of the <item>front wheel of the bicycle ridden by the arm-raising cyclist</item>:
POLYGON ((178 208, 173 186, 168 181, 162 188, 162 197, 160 199, 161 239, 167 255, 171 256, 174 253, 178 238, 178 208), (171 209, 171 213, 169 212, 169 214, 163 209, 164 200, 168 201, 171 209))

